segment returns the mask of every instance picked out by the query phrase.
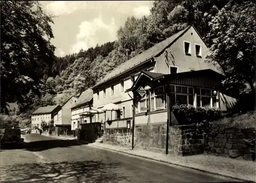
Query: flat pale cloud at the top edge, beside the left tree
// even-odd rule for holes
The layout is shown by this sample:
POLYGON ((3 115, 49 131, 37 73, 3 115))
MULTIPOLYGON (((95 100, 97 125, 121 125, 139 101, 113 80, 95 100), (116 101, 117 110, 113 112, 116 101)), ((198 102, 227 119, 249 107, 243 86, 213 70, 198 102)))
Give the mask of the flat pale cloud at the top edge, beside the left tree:
POLYGON ((45 6, 45 9, 54 15, 70 14, 80 9, 86 9, 85 2, 54 1, 45 6))

